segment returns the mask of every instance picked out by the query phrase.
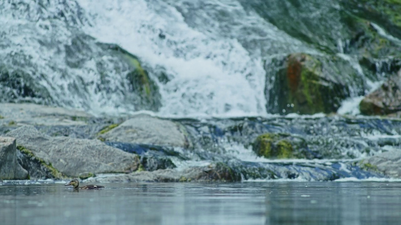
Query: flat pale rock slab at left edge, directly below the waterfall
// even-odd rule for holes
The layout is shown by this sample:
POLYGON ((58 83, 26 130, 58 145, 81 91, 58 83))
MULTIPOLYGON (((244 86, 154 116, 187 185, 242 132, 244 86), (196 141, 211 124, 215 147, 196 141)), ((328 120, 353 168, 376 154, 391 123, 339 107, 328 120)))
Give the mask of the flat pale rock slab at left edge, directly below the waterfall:
POLYGON ((0 103, 0 125, 85 125, 94 116, 80 110, 31 103, 0 103))

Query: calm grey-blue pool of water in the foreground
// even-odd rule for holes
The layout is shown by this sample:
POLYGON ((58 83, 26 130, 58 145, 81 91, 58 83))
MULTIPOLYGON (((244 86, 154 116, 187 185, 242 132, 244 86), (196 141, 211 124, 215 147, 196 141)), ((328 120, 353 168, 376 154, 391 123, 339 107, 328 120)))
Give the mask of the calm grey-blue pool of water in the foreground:
POLYGON ((105 185, 2 185, 0 224, 401 224, 401 183, 105 185))

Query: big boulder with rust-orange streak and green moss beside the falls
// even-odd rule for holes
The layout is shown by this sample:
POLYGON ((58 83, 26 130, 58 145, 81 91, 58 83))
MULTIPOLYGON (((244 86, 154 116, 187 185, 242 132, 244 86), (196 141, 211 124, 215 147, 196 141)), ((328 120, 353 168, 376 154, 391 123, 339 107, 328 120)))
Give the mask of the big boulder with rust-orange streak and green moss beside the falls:
MULTIPOLYGON (((280 69, 273 88, 266 85, 268 112, 315 114, 336 112, 350 90, 363 93, 365 84, 346 60, 337 56, 288 55, 276 63, 280 69)), ((271 66, 271 65, 267 65, 271 66)))

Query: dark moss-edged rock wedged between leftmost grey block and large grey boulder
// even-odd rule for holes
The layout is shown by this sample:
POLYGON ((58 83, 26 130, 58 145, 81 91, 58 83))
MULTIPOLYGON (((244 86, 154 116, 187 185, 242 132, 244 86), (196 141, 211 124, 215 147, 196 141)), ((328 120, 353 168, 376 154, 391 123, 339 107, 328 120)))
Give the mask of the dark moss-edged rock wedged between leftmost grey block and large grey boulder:
POLYGON ((51 163, 45 162, 43 159, 36 157, 32 151, 26 149, 22 145, 18 145, 18 163, 28 171, 32 179, 62 179, 66 176, 55 169, 51 163))

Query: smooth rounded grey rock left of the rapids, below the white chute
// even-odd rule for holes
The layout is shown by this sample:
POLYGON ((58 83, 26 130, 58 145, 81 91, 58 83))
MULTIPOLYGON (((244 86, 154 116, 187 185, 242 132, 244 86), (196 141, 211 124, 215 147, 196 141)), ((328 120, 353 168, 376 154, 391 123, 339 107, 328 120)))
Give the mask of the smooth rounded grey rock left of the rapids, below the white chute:
POLYGON ((106 127, 99 132, 99 138, 114 142, 190 147, 182 129, 182 125, 173 121, 141 114, 118 126, 106 127))

